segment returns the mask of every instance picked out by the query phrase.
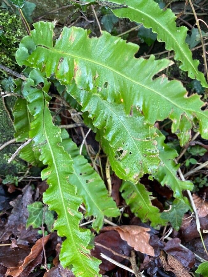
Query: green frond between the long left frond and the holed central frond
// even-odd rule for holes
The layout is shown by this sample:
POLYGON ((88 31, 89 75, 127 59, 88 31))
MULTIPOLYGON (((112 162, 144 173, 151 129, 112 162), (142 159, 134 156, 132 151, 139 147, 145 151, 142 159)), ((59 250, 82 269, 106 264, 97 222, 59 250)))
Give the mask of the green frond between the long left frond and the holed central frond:
POLYGON ((71 155, 75 174, 69 176, 69 182, 76 184, 77 192, 82 195, 87 210, 86 216, 94 216, 92 227, 99 231, 103 226, 104 216, 119 216, 120 211, 112 197, 108 196, 105 184, 84 156, 79 154, 79 148, 69 139, 66 130, 61 132, 64 150, 71 155))

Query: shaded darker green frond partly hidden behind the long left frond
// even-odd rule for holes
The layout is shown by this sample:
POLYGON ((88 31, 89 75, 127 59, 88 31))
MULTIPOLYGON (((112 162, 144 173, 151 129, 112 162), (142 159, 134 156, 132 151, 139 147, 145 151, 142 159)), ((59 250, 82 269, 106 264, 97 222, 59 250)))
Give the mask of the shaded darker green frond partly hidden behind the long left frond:
MULTIPOLYGON (((16 89, 18 90, 18 87, 21 87, 22 85, 22 81, 20 79, 15 80, 15 84, 17 86, 16 89)), ((16 89, 14 90, 15 92, 16 89)), ((27 109, 27 101, 25 99, 17 99, 13 108, 13 115, 15 128, 14 137, 17 142, 24 142, 29 138, 30 123, 33 120, 33 117, 27 109)), ((32 142, 20 151, 19 156, 28 163, 39 167, 42 166, 42 163, 39 161, 39 153, 32 150, 32 142)))

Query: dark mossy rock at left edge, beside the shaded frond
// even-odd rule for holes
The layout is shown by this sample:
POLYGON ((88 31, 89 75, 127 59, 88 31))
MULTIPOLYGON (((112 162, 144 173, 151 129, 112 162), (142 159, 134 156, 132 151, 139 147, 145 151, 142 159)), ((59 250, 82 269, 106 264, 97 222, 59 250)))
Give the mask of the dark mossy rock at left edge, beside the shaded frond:
MULTIPOLYGON (((11 112, 15 97, 5 97, 5 104, 7 109, 11 112)), ((2 98, 0 98, 0 143, 3 144, 6 141, 14 138, 14 126, 8 117, 6 110, 4 109, 2 98)), ((10 164, 7 160, 17 150, 18 145, 16 143, 10 144, 2 151, 0 151, 0 176, 5 177, 6 175, 18 175, 18 172, 24 172, 27 170, 27 164, 20 158, 16 157, 10 164)))

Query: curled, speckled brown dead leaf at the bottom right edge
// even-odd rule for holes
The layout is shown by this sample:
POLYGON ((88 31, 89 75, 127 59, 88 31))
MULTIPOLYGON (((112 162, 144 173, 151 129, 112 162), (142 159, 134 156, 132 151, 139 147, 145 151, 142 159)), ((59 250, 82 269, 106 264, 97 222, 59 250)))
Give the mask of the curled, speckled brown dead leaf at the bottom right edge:
POLYGON ((190 277, 189 272, 183 267, 183 265, 166 251, 161 250, 160 260, 165 271, 171 271, 177 277, 190 277))

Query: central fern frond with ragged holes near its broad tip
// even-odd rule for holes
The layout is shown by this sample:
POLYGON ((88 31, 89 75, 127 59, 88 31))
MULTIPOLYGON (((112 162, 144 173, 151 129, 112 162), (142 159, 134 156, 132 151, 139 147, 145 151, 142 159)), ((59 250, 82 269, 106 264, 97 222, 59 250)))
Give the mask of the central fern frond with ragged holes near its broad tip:
POLYGON ((116 156, 116 166, 112 167, 118 177, 121 177, 118 167, 125 172, 125 179, 133 183, 145 173, 157 171, 160 160, 154 140, 155 128, 145 124, 144 116, 136 108, 132 115, 126 115, 122 104, 109 103, 97 93, 79 90, 75 85, 68 86, 68 92, 83 106, 83 111, 88 111, 93 125, 108 141, 113 151, 111 156, 116 156), (118 163, 120 166, 117 167, 118 163))

